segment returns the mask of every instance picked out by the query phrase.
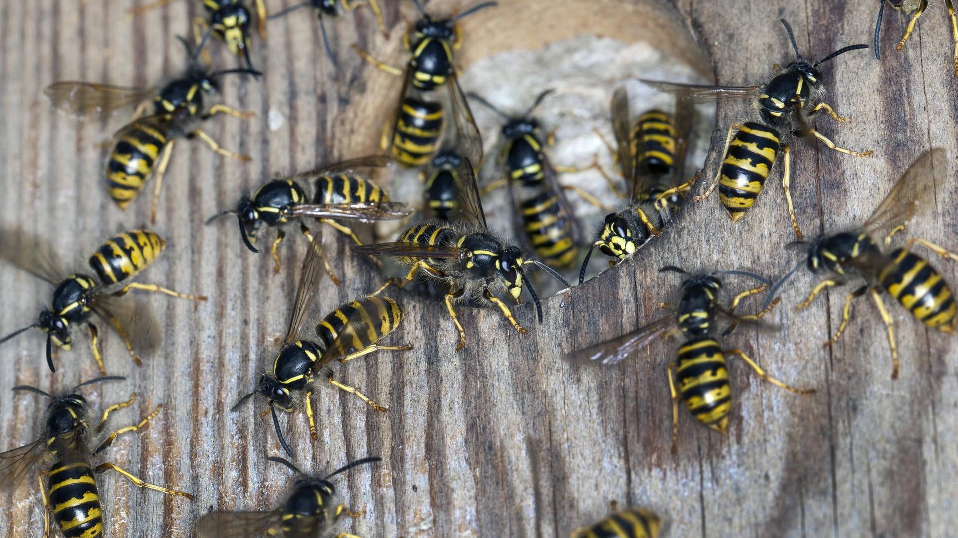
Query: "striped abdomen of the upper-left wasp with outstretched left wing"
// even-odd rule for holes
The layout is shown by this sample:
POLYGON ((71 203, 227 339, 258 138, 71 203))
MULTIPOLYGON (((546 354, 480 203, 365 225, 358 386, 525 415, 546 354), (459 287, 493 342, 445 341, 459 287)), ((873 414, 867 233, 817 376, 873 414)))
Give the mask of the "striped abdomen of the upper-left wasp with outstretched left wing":
POLYGON ((167 144, 168 133, 154 123, 134 123, 120 137, 106 164, 110 198, 125 210, 143 190, 156 159, 167 144))

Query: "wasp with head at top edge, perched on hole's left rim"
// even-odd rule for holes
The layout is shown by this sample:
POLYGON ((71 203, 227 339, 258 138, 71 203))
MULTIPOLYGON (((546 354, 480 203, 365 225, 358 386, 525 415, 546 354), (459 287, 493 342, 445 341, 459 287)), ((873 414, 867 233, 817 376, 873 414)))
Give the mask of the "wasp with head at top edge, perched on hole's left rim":
POLYGON ((459 139, 463 141, 459 152, 472 163, 479 164, 483 157, 482 137, 472 120, 453 65, 453 51, 462 46, 462 34, 456 23, 476 11, 498 4, 484 2, 447 19, 433 20, 422 9, 419 0, 412 1, 422 13, 422 19, 403 36, 406 51, 411 55, 404 72, 354 46, 355 51, 376 68, 405 77, 394 117, 383 130, 381 146, 384 150, 389 149, 401 165, 420 167, 426 164, 439 148, 445 116, 442 103, 426 96, 445 85, 452 119, 460 133, 459 139))

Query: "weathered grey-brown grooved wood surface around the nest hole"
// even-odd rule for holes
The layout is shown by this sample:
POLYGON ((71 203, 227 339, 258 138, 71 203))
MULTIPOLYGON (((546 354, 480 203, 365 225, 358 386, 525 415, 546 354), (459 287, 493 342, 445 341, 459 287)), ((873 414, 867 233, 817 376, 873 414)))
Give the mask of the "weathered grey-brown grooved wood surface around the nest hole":
MULTIPOLYGON (((409 6, 385 3, 390 21, 399 20, 399 11, 411 16, 409 6)), ((475 33, 493 21, 508 28, 513 6, 529 3, 536 2, 505 0, 494 13, 501 18, 490 11, 469 21, 468 38, 478 45, 464 49, 467 58, 482 56, 483 46, 507 47, 501 39, 475 33)), ((268 4, 271 11, 279 9, 278 3, 268 4)), ((631 5, 581 4, 583 12, 609 17, 620 5, 631 5)), ((712 54, 718 79, 745 84, 790 57, 779 18, 792 22, 807 56, 821 57, 853 42, 870 42, 876 4, 681 0, 678 7, 712 54)), ((797 145, 793 194, 809 233, 861 221, 901 170, 929 147, 944 146, 950 158, 947 176, 934 178, 934 207, 914 231, 958 247, 953 181, 958 81, 949 72, 950 41, 940 4, 929 8, 903 53, 893 50, 903 20, 890 12, 881 63, 855 54, 826 68, 832 104, 854 122, 822 121, 823 132, 845 146, 874 148, 877 155, 854 159, 797 145)), ((64 258, 78 263, 107 235, 144 224, 148 200, 121 213, 103 191, 103 150, 95 145, 121 121, 78 124, 53 112, 40 91, 56 79, 160 80, 181 65, 181 46, 173 35, 185 34, 200 11, 198 3, 180 2, 131 20, 125 18, 127 7, 116 0, 0 5, 0 162, 6 193, 0 226, 49 238, 64 258)), ((556 11, 555 19, 541 24, 574 31, 570 20, 576 19, 570 15, 556 11)), ((394 38, 401 26, 394 28, 394 38)), ((503 35, 490 28, 490 35, 503 35)), ((271 23, 266 46, 257 40, 253 57, 267 72, 262 83, 224 84, 225 102, 258 115, 246 123, 211 122, 209 132, 223 146, 252 154, 253 163, 221 159, 201 144, 182 144, 172 158, 154 227, 169 239, 169 252, 145 276, 205 292, 210 301, 140 298, 156 319, 155 330, 162 331, 162 346, 149 353, 142 368, 134 368, 119 339, 107 334, 108 370, 129 381, 88 393, 97 409, 129 392, 140 394, 136 405, 114 416, 119 425, 162 402, 162 414, 138 438, 118 442, 109 458, 148 481, 192 491, 196 501, 139 491, 104 475, 101 492, 111 536, 190 536, 195 519, 209 506, 276 505, 291 484, 285 469, 265 462, 279 448, 269 419, 259 414, 262 403, 256 412, 227 410, 251 389, 264 350, 285 330, 303 241, 289 241, 285 268, 274 275, 266 256, 243 250, 233 226, 204 228, 201 222, 274 172, 311 168, 373 148, 365 133, 369 125, 377 129, 379 120, 357 114, 384 105, 381 96, 365 93, 371 71, 349 45, 382 46, 381 37, 365 10, 329 29, 341 61, 335 74, 324 67, 316 22, 301 12, 271 23), (285 117, 275 130, 268 126, 270 110, 285 117), (363 129, 354 128, 367 122, 363 129)), ((232 61, 222 52, 214 56, 232 61)), ((742 111, 741 103, 721 104, 719 128, 740 119, 742 111)), ((723 136, 722 130, 713 142, 720 144, 723 136)), ((717 162, 713 154, 706 177, 717 162)), ((952 536, 958 528, 958 353, 953 338, 924 329, 897 305, 890 307, 902 365, 901 379, 893 382, 884 328, 874 308, 858 304, 844 339, 822 347, 840 319, 843 296, 829 294, 807 311, 795 312, 793 305, 812 280, 807 275, 794 279, 785 292, 787 307, 772 317, 783 331, 741 330, 730 344, 747 349, 773 375, 818 392, 780 391, 734 363, 738 401, 729 434, 706 431, 683 412, 675 455, 669 452, 665 382, 672 344, 656 344, 617 368, 560 358, 561 351, 656 316, 655 304, 668 300, 677 281, 656 273, 662 265, 776 276, 787 270, 794 258, 783 247, 792 237, 784 196, 775 183, 769 182, 762 201, 739 225, 732 224, 717 199, 690 207, 670 233, 642 251, 641 259, 549 299, 544 323, 524 336, 493 311, 467 310, 464 325, 476 332, 470 345, 456 352, 442 305, 404 298, 407 318, 392 340, 411 342, 415 350, 376 353, 341 375, 390 412, 377 414, 349 394, 319 388, 314 400, 319 442, 309 442, 303 416, 282 419, 298 462, 323 472, 366 455, 383 457, 381 465, 337 481, 349 504, 367 510, 352 522, 353 531, 363 536, 565 536, 603 516, 612 499, 654 507, 671 521, 673 537, 952 536)), ((331 244, 333 266, 348 278, 338 288, 324 287, 323 310, 371 290, 379 280, 346 251, 345 242, 331 244)), ((958 282, 954 264, 934 262, 948 280, 958 282)), ((0 275, 5 290, 0 327, 7 331, 33 318, 47 289, 11 267, 0 269, 0 275)), ((530 305, 516 311, 533 325, 530 305)), ((3 347, 4 448, 36 436, 44 406, 33 395, 14 396, 11 387, 59 390, 96 375, 82 342, 78 350, 60 353, 57 375, 43 366, 37 334, 3 347)), ((0 504, 5 506, 0 534, 40 535, 42 504, 34 481, 4 493, 0 504)))

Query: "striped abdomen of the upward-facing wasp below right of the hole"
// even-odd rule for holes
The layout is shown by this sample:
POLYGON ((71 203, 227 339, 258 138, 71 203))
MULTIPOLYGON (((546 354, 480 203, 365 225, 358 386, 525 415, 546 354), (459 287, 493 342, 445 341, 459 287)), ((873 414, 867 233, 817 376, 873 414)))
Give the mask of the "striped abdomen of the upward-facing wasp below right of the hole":
POLYGON ((678 392, 696 420, 725 433, 732 412, 725 354, 714 338, 694 338, 678 347, 678 392))

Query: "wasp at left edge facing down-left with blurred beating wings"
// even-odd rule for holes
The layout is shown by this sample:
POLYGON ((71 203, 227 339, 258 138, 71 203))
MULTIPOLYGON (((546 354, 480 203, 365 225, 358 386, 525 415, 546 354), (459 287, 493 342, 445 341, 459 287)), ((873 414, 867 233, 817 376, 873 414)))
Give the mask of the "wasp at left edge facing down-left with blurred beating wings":
MULTIPOLYGON (((93 350, 93 358, 97 361, 100 372, 105 374, 106 370, 103 368, 103 359, 98 347, 99 330, 97 325, 90 321, 90 318, 96 315, 109 325, 113 325, 123 338, 133 362, 140 366, 142 361, 133 350, 129 334, 116 314, 116 300, 119 297, 130 290, 141 290, 164 293, 180 299, 206 301, 205 296, 179 293, 156 284, 141 282, 122 284, 146 269, 154 259, 160 256, 166 245, 166 240, 146 230, 133 230, 111 237, 89 258, 89 266, 97 275, 96 278, 81 273, 64 276, 63 271, 57 268, 57 262, 52 261, 55 254, 46 247, 34 244, 28 252, 11 252, 14 256, 23 255, 25 259, 19 264, 34 276, 47 280, 56 288, 50 306, 40 312, 40 317, 34 324, 13 331, 0 339, 0 344, 26 330, 40 328, 47 333, 47 365, 51 371, 57 371, 53 361, 54 345, 70 349, 73 342, 70 336, 73 325, 85 323, 90 330, 90 348, 93 350)), ((134 336, 137 335, 134 334, 134 336)))

